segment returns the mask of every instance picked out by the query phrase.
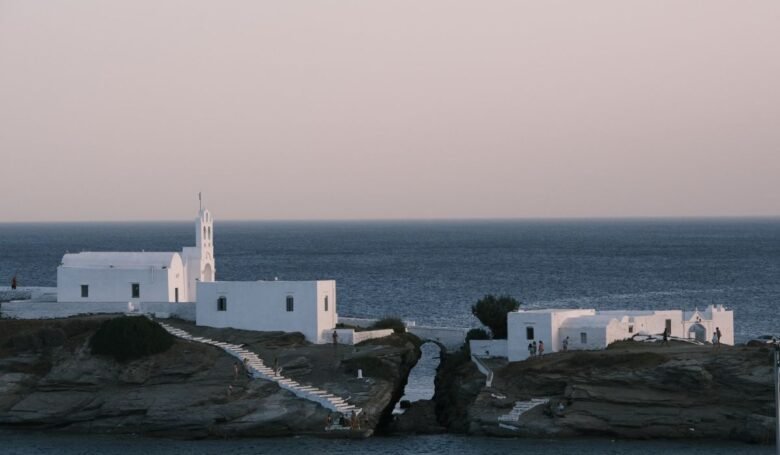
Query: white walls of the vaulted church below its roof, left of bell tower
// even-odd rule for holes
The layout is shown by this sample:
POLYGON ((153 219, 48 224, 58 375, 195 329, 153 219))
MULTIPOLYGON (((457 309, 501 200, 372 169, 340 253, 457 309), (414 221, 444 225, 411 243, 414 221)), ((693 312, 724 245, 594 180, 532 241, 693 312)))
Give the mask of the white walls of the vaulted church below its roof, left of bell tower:
POLYGON ((184 268, 175 263, 167 269, 107 269, 57 267, 58 302, 174 302, 175 288, 185 301, 184 268), (132 298, 131 284, 141 286, 140 298, 132 298), (89 286, 89 296, 81 297, 81 285, 89 286))

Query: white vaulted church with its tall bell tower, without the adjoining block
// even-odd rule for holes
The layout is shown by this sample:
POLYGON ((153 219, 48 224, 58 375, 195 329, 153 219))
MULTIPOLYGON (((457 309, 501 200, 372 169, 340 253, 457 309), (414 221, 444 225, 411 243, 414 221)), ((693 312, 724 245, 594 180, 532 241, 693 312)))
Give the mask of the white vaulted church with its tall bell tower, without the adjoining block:
POLYGON ((181 253, 65 254, 57 267, 58 302, 194 302, 197 282, 214 281, 214 220, 201 209, 195 246, 181 253))

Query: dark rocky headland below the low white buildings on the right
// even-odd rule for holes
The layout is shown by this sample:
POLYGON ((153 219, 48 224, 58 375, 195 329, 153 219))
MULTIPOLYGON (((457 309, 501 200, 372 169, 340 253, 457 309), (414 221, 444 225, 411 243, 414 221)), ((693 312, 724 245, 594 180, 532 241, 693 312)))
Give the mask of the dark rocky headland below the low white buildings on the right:
MULTIPOLYGON (((458 369, 450 428, 500 436, 610 436, 774 440, 771 353, 747 347, 620 343, 524 362, 492 361, 493 387, 458 369), (479 386, 477 393, 466 393, 479 386), (468 388, 471 388, 467 390, 468 388), (499 421, 518 401, 549 398, 519 419, 499 421)), ((444 378, 440 378, 444 380, 444 378)))

